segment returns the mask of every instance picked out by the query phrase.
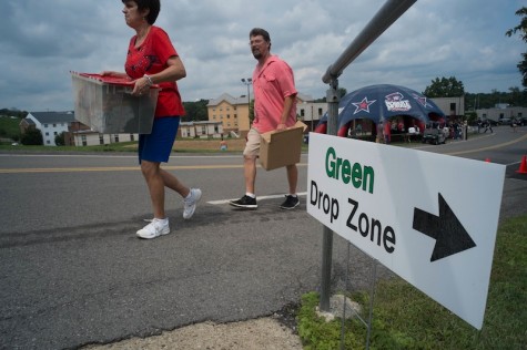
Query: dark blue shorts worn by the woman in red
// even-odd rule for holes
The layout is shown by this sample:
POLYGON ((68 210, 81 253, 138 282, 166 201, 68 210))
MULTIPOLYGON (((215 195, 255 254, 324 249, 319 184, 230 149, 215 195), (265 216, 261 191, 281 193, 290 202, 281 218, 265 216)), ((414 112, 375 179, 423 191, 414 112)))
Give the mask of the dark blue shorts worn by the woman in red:
POLYGON ((179 127, 179 116, 154 120, 152 133, 139 135, 139 164, 141 164, 141 161, 168 163, 179 127))

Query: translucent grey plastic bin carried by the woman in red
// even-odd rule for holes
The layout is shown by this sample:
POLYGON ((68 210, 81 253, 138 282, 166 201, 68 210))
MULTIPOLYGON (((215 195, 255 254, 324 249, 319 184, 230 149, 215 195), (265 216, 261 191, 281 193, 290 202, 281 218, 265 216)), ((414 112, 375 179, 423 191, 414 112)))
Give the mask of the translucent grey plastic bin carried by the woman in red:
POLYGON ((133 96, 130 80, 71 72, 75 120, 101 134, 150 134, 159 86, 133 96))

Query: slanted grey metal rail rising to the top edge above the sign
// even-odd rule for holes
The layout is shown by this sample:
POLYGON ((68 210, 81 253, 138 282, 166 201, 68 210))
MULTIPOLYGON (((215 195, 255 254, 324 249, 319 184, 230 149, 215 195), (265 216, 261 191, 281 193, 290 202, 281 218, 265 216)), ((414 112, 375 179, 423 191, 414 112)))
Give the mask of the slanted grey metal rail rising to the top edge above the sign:
POLYGON ((416 1, 417 0, 387 0, 347 49, 327 68, 322 81, 328 84, 332 79, 341 76, 344 69, 416 1))

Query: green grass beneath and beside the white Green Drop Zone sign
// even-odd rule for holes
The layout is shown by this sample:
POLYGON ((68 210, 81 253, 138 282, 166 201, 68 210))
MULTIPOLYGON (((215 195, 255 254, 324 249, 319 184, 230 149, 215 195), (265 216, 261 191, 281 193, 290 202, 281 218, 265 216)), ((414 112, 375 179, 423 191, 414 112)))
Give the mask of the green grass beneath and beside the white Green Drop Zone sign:
MULTIPOLYGON (((527 215, 498 230, 483 329, 476 330, 401 278, 377 284, 371 349, 526 349, 527 215)), ((367 319, 368 295, 351 296, 367 319)), ((341 320, 316 316, 318 295, 306 294, 297 316, 306 350, 341 349, 341 320)), ((364 349, 365 326, 345 323, 345 349, 364 349)))

